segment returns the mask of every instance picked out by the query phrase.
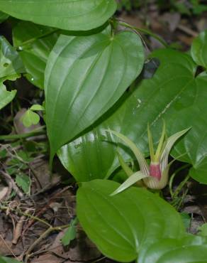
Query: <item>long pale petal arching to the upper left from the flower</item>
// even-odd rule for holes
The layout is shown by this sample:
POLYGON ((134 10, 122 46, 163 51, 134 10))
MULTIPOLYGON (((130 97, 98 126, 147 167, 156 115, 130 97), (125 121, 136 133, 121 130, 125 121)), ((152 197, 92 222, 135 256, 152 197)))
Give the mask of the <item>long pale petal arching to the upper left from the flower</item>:
POLYGON ((120 134, 119 132, 115 132, 112 130, 107 130, 107 132, 111 132, 112 134, 116 135, 119 139, 124 141, 124 143, 130 147, 130 149, 133 151, 133 153, 136 156, 136 159, 138 160, 138 163, 140 165, 140 171, 144 173, 145 175, 149 176, 149 166, 147 164, 147 161, 145 160, 145 157, 142 155, 141 151, 138 149, 138 147, 128 139, 128 137, 124 136, 123 134, 120 134))

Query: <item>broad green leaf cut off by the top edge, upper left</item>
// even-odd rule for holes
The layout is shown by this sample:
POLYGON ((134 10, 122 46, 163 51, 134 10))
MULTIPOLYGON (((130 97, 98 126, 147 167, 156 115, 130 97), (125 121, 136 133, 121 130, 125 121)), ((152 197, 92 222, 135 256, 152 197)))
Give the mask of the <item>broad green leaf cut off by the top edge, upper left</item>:
POLYGON ((0 0, 0 10, 16 18, 65 30, 89 30, 116 11, 115 0, 0 0))

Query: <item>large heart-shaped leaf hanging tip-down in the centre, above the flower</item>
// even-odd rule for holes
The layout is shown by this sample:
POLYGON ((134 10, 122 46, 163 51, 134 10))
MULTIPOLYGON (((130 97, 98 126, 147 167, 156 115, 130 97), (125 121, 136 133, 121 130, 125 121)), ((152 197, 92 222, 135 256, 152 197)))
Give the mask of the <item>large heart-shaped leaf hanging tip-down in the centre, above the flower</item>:
POLYGON ((60 36, 45 71, 51 159, 113 106, 140 74, 143 62, 140 37, 130 31, 60 36))

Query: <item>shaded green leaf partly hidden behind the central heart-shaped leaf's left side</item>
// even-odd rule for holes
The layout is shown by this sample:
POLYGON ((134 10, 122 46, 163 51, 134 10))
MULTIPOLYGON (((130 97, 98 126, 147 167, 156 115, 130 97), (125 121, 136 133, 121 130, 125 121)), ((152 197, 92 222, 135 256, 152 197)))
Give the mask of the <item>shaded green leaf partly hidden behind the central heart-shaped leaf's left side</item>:
POLYGON ((54 28, 25 21, 19 22, 13 28, 13 44, 20 50, 26 77, 33 85, 42 89, 47 58, 58 35, 54 28))

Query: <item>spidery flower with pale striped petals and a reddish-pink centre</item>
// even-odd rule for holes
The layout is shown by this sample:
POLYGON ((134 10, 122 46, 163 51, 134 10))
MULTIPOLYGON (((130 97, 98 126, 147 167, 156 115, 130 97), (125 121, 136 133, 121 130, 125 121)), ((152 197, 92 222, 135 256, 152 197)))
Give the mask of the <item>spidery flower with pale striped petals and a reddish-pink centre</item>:
POLYGON ((116 195, 117 193, 122 192, 126 188, 132 186, 134 183, 138 183, 138 181, 142 180, 145 186, 150 189, 162 189, 165 186, 167 186, 168 178, 169 178, 169 166, 172 164, 172 162, 168 163, 168 157, 169 152, 172 149, 172 146, 174 143, 186 132, 189 131, 189 129, 184 129, 181 132, 177 132, 176 134, 173 134, 167 139, 166 136, 166 127, 165 124, 163 124, 162 127, 162 134, 160 136, 160 141, 157 146, 157 150, 154 150, 153 146, 153 140, 152 140, 152 134, 150 132, 150 126, 147 125, 147 135, 148 135, 148 143, 149 143, 149 149, 150 149, 150 166, 148 165, 147 161, 145 160, 144 155, 142 152, 138 149, 138 147, 128 139, 128 137, 124 136, 123 134, 120 134, 115 131, 108 130, 111 134, 116 135, 119 139, 121 139, 127 146, 130 147, 130 149, 135 154, 136 159, 138 160, 138 163, 140 165, 140 171, 133 172, 127 163, 123 160, 121 154, 118 154, 118 160, 128 175, 128 179, 121 184, 120 187, 118 187, 111 195, 116 195))

